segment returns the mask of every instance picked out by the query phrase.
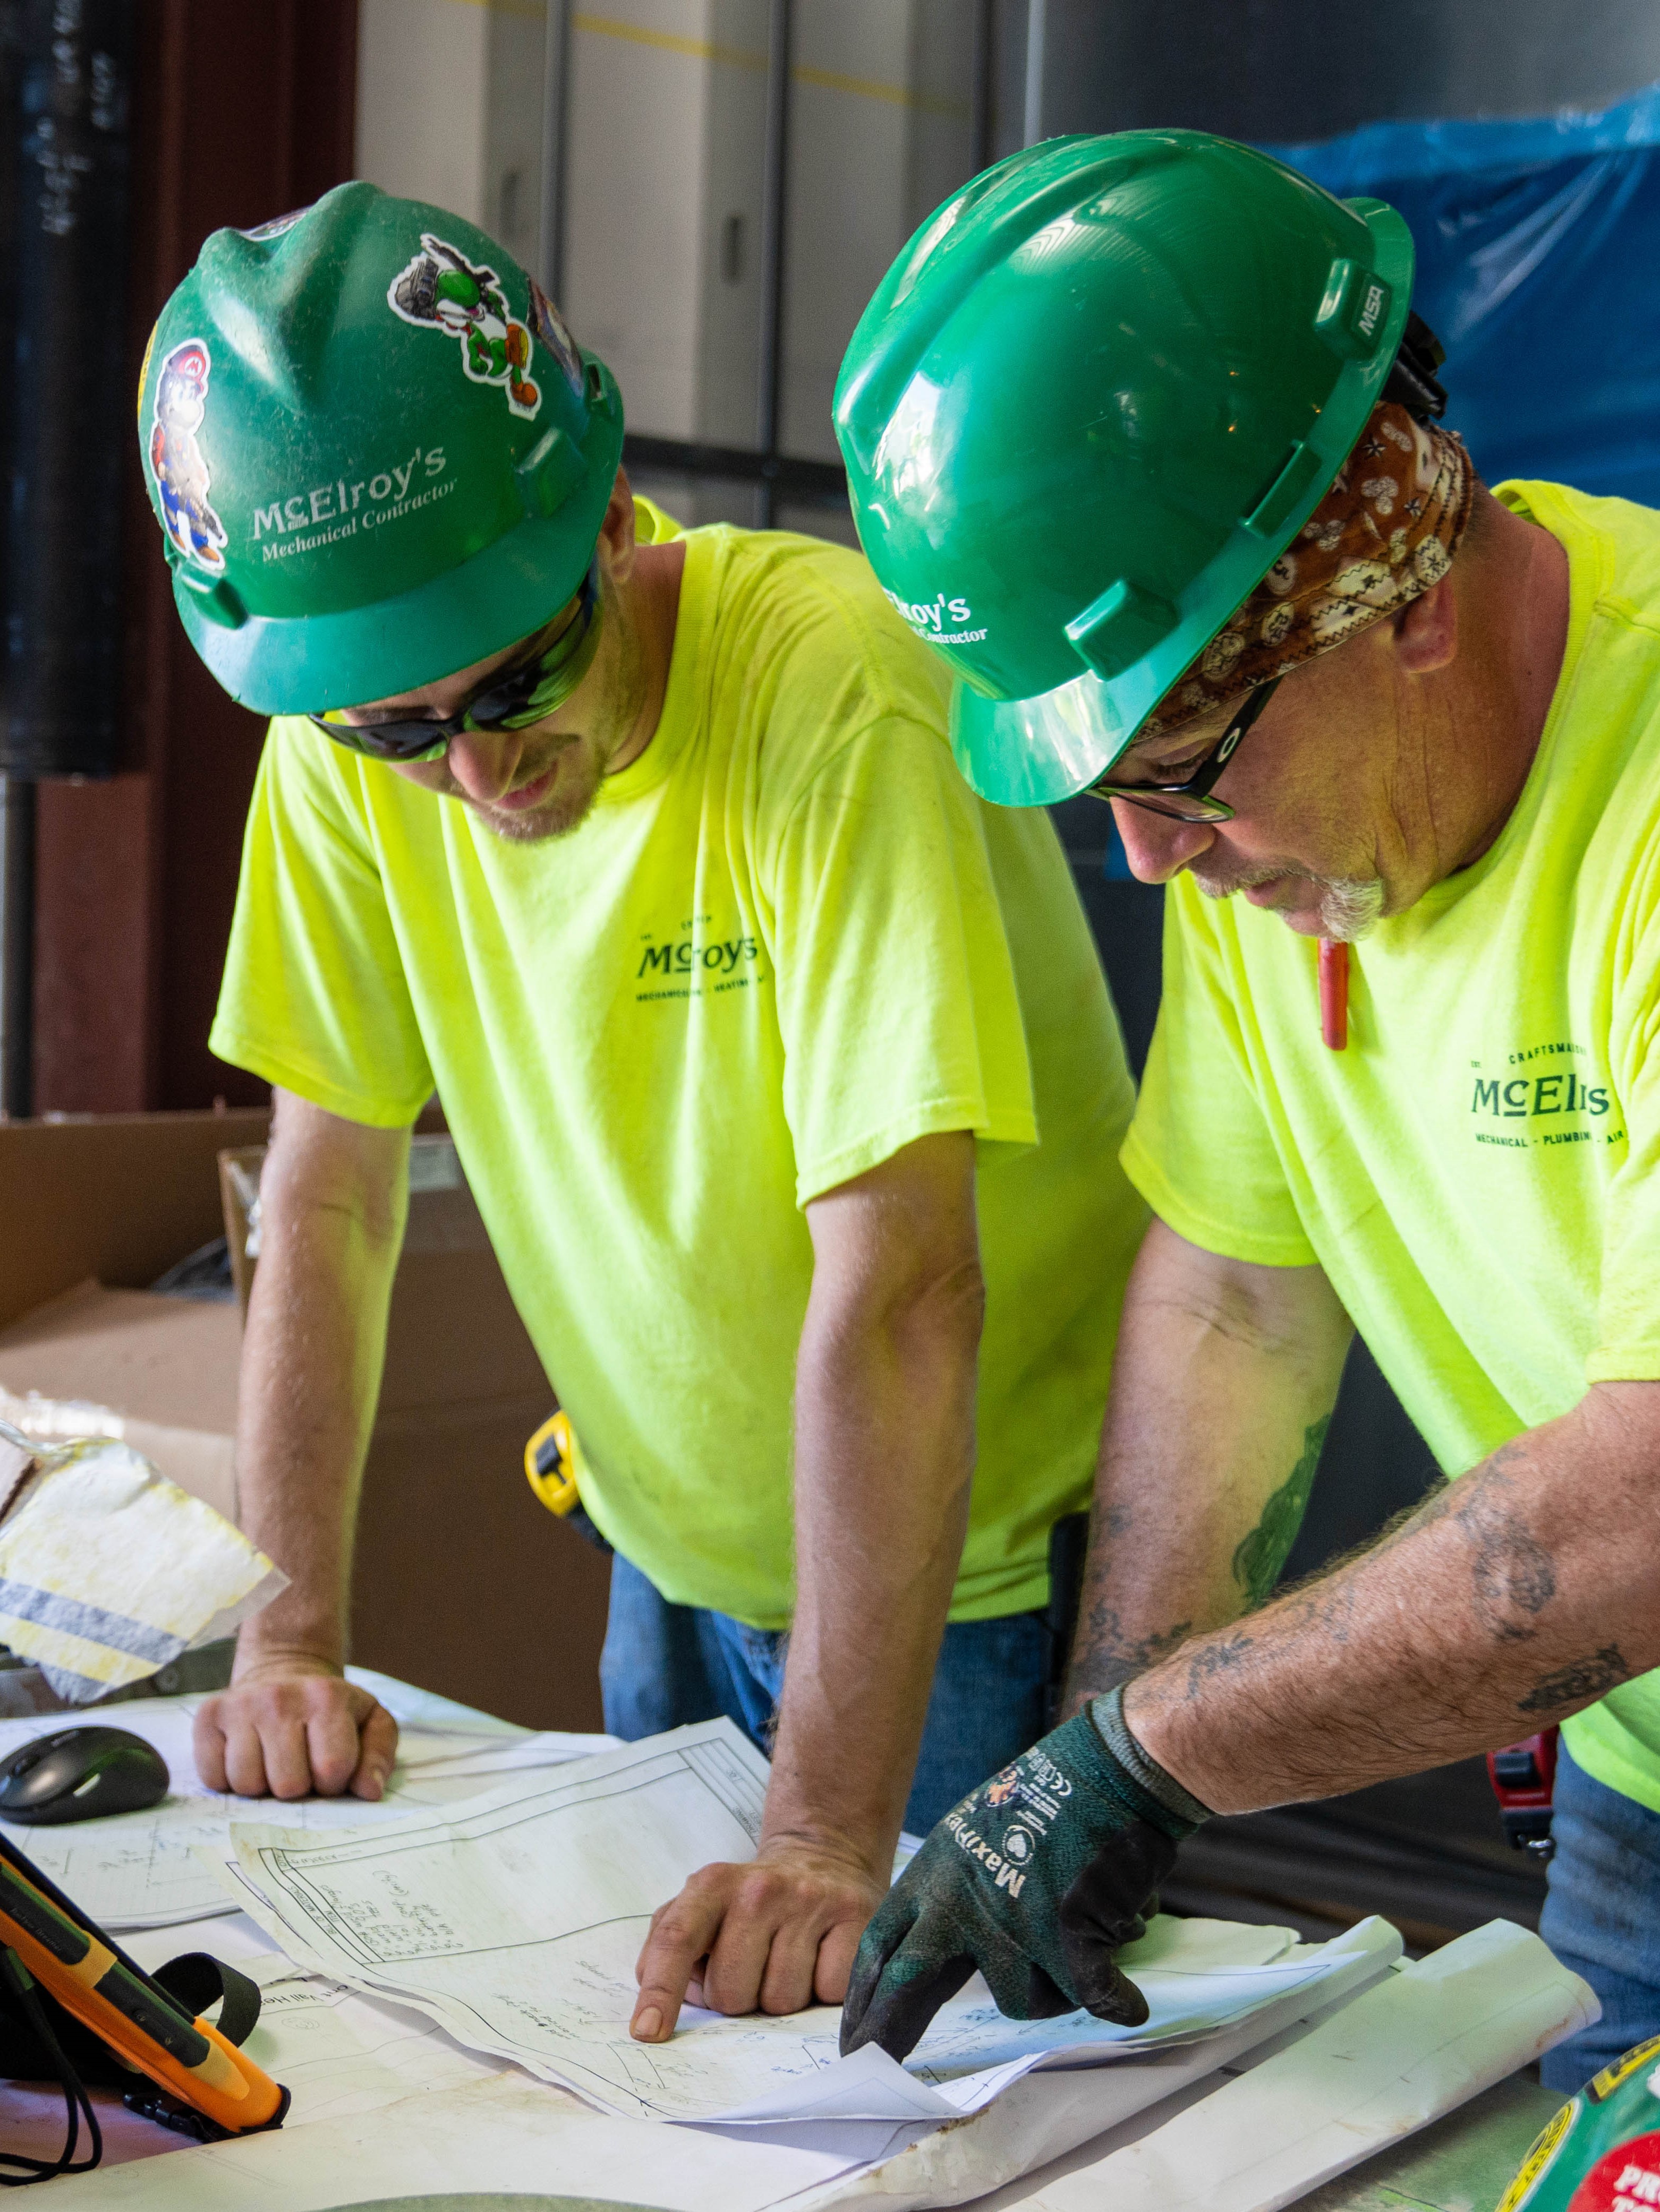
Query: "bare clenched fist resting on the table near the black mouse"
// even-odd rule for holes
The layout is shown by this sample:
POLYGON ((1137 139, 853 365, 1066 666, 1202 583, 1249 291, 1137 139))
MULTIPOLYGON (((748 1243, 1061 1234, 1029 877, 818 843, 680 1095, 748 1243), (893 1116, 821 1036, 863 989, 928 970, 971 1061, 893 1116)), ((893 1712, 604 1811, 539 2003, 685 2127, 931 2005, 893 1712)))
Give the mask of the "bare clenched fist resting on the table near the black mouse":
POLYGON ((398 1723, 323 1659, 263 1659, 197 1712, 197 1774, 237 1796, 378 1798, 398 1723))

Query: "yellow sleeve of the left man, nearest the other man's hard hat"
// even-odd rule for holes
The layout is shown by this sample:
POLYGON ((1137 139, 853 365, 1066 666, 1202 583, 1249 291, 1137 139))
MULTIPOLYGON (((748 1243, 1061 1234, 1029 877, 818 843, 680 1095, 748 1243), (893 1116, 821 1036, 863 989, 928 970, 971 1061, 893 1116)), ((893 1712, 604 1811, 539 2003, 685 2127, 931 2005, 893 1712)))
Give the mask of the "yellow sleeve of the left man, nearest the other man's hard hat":
POLYGON ((978 801, 938 730, 888 714, 841 745, 764 891, 799 1203, 943 1130, 1036 1144, 978 801))

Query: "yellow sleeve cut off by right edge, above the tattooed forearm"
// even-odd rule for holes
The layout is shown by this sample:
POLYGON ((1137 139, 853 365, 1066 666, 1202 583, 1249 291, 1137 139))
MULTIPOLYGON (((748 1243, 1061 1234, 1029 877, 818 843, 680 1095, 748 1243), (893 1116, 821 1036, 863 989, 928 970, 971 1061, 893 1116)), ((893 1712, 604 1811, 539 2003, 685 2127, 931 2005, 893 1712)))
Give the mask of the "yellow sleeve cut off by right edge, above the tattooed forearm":
POLYGON ((1609 1097, 1591 1110, 1598 1144, 1618 1144, 1605 1201, 1598 1340, 1589 1383, 1660 1380, 1660 914, 1633 940, 1616 975, 1609 1097))

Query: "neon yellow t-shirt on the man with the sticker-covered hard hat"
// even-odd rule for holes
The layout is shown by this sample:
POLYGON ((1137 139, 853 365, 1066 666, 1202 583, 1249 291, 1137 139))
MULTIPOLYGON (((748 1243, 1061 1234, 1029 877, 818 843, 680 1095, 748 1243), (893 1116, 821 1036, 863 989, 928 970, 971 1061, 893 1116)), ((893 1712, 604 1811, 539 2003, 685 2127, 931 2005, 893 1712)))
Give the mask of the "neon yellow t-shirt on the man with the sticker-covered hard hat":
POLYGON ((943 677, 859 555, 684 542, 660 728, 564 838, 507 843, 272 723, 212 1048, 372 1126, 438 1091, 593 1520, 666 1597, 761 1628, 792 1606, 801 1206, 974 1130, 987 1316, 952 1617, 1042 1606, 1147 1223, 1065 854, 1042 814, 969 794, 943 677))

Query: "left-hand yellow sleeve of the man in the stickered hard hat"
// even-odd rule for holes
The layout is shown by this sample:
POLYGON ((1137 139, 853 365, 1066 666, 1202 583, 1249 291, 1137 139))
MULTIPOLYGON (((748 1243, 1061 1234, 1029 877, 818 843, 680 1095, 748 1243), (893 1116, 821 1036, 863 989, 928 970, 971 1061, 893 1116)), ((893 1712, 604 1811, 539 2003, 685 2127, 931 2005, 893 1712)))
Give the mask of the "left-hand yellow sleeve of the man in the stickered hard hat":
POLYGON ((241 849, 210 1051, 314 1106, 403 1128, 432 1097, 361 770, 274 721, 241 849))

